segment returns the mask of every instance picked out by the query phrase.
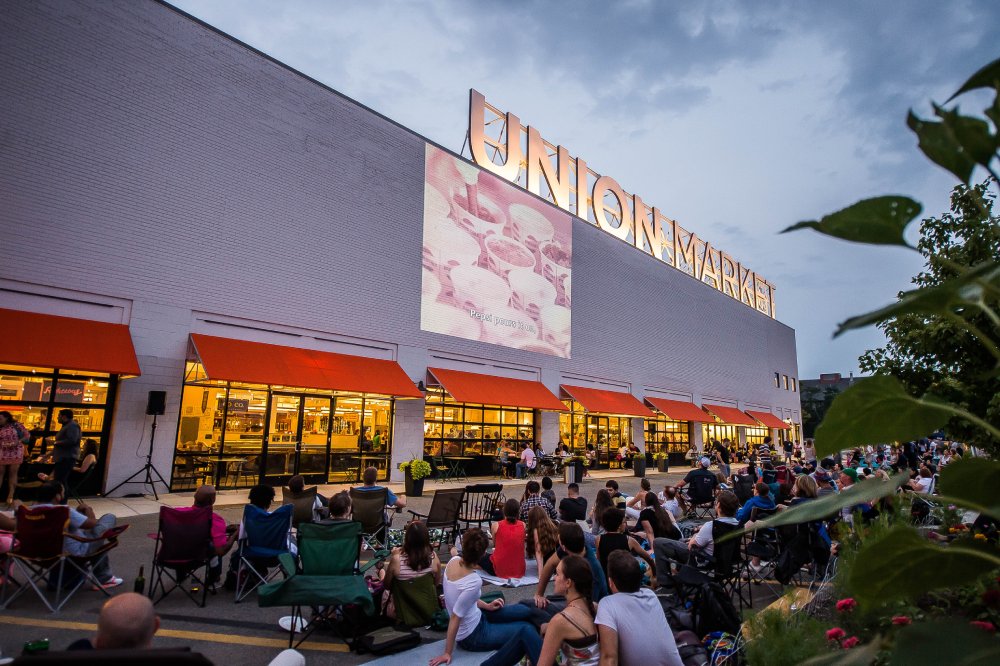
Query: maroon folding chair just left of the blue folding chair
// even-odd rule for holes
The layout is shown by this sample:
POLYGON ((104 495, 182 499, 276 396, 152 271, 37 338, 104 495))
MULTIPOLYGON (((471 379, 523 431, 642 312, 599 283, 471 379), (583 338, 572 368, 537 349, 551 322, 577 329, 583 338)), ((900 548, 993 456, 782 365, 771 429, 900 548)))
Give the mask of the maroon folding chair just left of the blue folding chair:
POLYGON ((160 507, 160 522, 155 535, 153 566, 150 568, 149 598, 154 604, 176 589, 187 595, 197 606, 205 607, 208 598, 209 575, 215 549, 212 545, 212 507, 199 506, 191 509, 160 507), (196 573, 204 568, 201 577, 196 573), (164 576, 173 583, 170 588, 164 583, 164 576), (191 578, 201 586, 201 602, 195 593, 185 589, 181 583, 191 578), (156 589, 160 598, 156 598, 156 589))

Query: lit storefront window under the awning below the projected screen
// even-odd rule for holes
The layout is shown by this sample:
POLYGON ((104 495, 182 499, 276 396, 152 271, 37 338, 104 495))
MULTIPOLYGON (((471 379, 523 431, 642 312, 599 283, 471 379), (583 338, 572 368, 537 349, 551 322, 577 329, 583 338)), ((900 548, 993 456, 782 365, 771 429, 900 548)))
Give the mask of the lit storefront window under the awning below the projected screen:
POLYGON ((472 456, 467 473, 489 474, 501 442, 514 450, 535 441, 535 413, 531 409, 454 402, 440 388, 429 387, 424 407, 424 455, 472 456))

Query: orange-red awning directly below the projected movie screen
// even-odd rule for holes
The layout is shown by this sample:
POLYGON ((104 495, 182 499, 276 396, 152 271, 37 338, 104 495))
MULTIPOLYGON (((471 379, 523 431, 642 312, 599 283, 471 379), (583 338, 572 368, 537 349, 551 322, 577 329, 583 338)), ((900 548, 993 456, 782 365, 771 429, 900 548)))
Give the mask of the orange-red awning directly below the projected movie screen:
POLYGON ((510 377, 480 375, 475 372, 427 368, 444 390, 458 402, 502 407, 528 407, 553 412, 567 411, 566 405, 541 382, 510 377))

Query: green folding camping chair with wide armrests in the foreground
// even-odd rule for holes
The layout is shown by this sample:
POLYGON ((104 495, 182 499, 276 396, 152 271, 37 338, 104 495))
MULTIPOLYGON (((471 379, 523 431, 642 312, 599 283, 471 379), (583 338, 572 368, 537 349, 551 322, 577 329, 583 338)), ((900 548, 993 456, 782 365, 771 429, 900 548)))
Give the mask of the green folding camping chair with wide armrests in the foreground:
POLYGON ((288 647, 298 647, 328 619, 318 608, 331 611, 343 604, 356 604, 367 616, 375 614, 375 602, 363 574, 389 556, 378 551, 360 566, 361 523, 303 523, 299 525, 299 556, 282 553, 278 561, 288 576, 284 580, 261 585, 257 599, 261 607, 291 606, 292 623, 288 647), (312 607, 313 617, 301 627, 302 637, 295 642, 295 630, 304 623, 302 608, 312 607))

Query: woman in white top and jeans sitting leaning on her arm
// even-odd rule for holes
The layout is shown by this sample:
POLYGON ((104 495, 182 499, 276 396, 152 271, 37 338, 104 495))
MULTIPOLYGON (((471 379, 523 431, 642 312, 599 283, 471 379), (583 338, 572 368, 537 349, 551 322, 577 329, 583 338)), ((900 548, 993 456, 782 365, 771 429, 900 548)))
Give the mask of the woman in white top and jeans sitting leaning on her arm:
POLYGON ((527 621, 532 609, 524 604, 504 606, 503 599, 487 604, 479 598, 483 579, 476 569, 488 545, 481 529, 466 530, 462 535, 462 554, 451 558, 444 569, 444 604, 451 619, 444 654, 431 659, 430 666, 451 663, 456 642, 470 652, 496 650, 482 662, 487 666, 514 666, 525 655, 531 663, 538 663, 542 638, 527 621))

